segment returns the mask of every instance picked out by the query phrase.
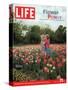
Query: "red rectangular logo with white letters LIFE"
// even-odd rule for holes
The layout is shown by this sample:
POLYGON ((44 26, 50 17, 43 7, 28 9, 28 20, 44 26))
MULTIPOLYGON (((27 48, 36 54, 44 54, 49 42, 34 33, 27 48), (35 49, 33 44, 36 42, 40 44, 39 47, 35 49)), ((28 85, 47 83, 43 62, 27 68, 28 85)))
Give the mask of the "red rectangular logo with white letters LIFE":
POLYGON ((15 6, 15 18, 16 19, 35 19, 35 8, 15 6))

